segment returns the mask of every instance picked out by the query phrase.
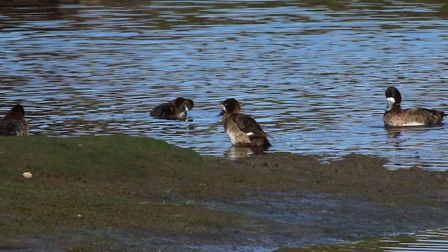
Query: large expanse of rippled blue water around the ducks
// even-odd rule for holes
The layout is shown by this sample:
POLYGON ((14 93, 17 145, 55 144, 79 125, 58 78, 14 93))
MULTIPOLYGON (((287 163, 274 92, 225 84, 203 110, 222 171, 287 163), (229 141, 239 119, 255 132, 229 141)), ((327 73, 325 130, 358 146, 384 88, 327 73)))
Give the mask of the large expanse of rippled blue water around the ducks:
POLYGON ((0 112, 33 134, 131 134, 203 155, 232 148, 217 115, 235 97, 267 152, 390 158, 447 169, 448 127, 388 130, 384 90, 448 111, 448 6, 421 1, 1 1, 0 112), (175 97, 188 121, 149 111, 175 97))

